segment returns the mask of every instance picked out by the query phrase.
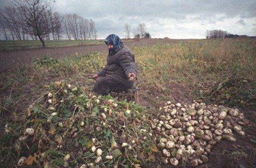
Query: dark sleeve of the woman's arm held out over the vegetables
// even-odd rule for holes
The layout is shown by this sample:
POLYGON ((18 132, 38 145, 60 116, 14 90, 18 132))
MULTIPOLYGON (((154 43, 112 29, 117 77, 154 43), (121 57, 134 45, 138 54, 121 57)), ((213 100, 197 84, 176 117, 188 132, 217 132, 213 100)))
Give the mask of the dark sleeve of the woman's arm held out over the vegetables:
POLYGON ((135 64, 134 55, 130 52, 124 52, 119 57, 120 58, 120 65, 124 69, 126 76, 128 76, 128 73, 135 73, 137 76, 137 66, 135 64))

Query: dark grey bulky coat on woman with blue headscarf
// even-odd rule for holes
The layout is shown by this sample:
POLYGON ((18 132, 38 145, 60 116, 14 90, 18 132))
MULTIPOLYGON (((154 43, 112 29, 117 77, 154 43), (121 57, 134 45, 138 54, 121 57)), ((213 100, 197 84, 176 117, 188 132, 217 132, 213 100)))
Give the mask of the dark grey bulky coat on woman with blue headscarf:
POLYGON ((128 80, 128 73, 134 73, 137 77, 137 67, 134 54, 130 48, 122 45, 118 50, 109 50, 107 63, 98 73, 93 91, 106 95, 111 90, 127 90, 134 86, 134 82, 128 80))

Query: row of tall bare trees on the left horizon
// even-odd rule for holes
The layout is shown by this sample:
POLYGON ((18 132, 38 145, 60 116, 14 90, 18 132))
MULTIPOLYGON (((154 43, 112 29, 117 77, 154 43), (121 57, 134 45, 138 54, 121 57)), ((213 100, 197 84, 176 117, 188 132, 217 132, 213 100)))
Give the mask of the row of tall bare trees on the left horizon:
POLYGON ((92 19, 77 14, 59 14, 51 0, 14 0, 0 11, 0 34, 6 40, 92 40, 97 30, 92 19))

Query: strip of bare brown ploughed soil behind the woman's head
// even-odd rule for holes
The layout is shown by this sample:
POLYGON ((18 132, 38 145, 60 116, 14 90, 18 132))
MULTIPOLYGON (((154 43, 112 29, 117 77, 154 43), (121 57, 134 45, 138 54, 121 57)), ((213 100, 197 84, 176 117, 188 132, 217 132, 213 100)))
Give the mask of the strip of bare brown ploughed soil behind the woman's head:
MULTIPOLYGON (((155 44, 167 44, 174 42, 170 39, 151 39, 141 41, 124 41, 124 44, 132 46, 144 46, 155 44)), ((59 47, 59 48, 38 48, 33 50, 20 51, 0 51, 0 72, 7 69, 30 64, 35 58, 41 58, 44 55, 50 55, 54 58, 62 58, 75 55, 75 53, 86 55, 90 52, 108 52, 105 44, 102 45, 88 45, 88 46, 74 46, 74 47, 59 47)))

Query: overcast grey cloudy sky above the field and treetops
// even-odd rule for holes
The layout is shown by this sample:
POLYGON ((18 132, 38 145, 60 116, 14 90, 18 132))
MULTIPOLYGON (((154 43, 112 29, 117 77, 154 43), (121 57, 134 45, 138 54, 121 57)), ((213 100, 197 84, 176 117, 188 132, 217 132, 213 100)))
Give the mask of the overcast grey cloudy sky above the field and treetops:
MULTIPOLYGON (((3 8, 11 0, 0 0, 3 8)), ((99 39, 144 23, 154 38, 202 39, 206 30, 256 36, 256 0, 55 0, 61 14, 92 19, 99 39)), ((133 34, 132 34, 133 36, 133 34)))

